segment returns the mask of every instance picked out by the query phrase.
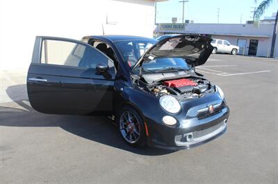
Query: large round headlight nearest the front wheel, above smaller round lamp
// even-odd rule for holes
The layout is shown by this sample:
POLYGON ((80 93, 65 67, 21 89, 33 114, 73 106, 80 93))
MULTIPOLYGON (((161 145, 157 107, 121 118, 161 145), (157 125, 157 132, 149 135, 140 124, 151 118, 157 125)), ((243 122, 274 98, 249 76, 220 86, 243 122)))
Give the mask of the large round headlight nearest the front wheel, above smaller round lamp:
POLYGON ((176 98, 170 95, 164 95, 159 99, 161 107, 170 113, 178 113, 181 110, 181 104, 176 100, 176 98))

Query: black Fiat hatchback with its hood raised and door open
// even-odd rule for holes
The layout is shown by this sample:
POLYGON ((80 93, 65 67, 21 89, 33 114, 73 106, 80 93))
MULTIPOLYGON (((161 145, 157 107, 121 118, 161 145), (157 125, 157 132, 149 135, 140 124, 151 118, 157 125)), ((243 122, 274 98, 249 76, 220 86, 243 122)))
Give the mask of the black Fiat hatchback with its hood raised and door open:
POLYGON ((42 113, 110 116, 131 146, 188 149, 227 129, 224 93, 195 72, 212 50, 198 35, 36 37, 28 98, 42 113))

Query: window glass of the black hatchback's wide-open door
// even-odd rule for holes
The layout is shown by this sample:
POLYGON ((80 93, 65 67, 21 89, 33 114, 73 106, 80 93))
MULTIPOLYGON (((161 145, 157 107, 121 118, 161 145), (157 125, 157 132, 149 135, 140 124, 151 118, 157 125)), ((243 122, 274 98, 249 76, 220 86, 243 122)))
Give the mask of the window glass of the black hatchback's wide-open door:
POLYGON ((90 46, 51 39, 42 42, 41 64, 96 68, 100 62, 113 67, 108 57, 90 46))

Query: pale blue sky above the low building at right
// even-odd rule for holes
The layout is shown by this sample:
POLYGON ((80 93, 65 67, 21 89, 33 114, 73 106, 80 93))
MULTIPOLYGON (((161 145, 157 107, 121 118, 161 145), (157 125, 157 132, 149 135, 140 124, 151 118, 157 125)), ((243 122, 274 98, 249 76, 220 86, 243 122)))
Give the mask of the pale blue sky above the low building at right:
MULTIPOLYGON (((172 17, 178 18, 178 23, 182 20, 182 3, 181 0, 169 0, 156 3, 156 23, 171 23, 172 17)), ((185 3, 185 19, 194 20, 194 23, 219 23, 222 24, 245 24, 247 20, 252 20, 252 10, 259 6, 263 0, 189 0, 185 3)), ((272 12, 277 12, 278 1, 273 0, 272 5, 265 11, 261 17, 271 17, 272 12)))

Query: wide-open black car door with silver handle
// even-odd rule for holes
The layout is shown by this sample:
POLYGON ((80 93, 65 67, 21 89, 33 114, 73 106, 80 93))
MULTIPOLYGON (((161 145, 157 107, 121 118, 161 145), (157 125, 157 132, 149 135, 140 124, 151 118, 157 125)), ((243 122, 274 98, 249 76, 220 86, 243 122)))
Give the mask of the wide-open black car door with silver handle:
POLYGON ((28 98, 42 113, 110 113, 115 73, 113 61, 84 42, 36 37, 27 75, 28 98), (108 70, 97 72, 98 64, 108 70))

